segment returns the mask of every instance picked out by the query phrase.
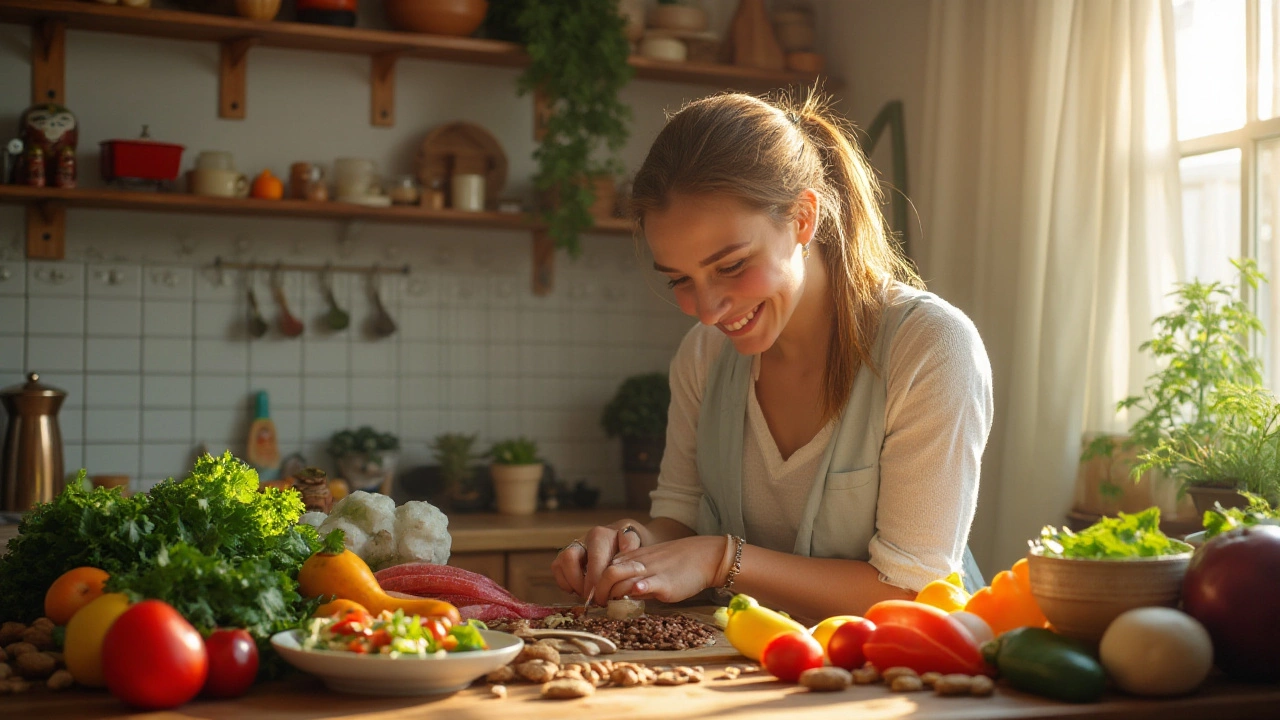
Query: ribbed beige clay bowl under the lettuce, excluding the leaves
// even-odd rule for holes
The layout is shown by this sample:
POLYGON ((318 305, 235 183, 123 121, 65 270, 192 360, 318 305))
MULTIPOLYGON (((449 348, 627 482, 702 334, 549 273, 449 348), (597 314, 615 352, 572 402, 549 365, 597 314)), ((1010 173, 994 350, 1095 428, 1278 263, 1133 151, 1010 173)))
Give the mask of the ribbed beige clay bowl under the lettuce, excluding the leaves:
POLYGON ((1059 633, 1097 643, 1121 612, 1134 607, 1176 607, 1190 551, 1132 560, 1027 555, 1032 596, 1059 633))

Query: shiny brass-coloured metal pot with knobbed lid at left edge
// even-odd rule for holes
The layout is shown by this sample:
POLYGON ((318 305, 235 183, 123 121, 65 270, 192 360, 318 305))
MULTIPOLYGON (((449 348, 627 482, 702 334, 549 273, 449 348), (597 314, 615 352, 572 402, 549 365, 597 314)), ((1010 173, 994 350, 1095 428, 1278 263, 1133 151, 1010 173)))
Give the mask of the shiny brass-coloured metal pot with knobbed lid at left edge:
POLYGON ((0 464, 0 510, 31 510, 63 492, 67 478, 58 409, 64 400, 65 391, 41 384, 36 373, 27 375, 23 384, 0 389, 0 404, 9 414, 0 464))

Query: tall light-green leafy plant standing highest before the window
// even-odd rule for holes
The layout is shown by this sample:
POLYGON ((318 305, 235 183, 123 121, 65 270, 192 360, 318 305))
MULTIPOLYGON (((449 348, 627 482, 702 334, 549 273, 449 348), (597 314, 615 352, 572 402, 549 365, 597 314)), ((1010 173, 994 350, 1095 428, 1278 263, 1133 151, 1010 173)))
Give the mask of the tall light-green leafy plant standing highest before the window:
MULTIPOLYGON (((1158 470, 1176 474, 1174 465, 1148 462, 1144 454, 1153 451, 1175 432, 1180 437, 1207 438, 1221 420, 1222 406, 1216 405, 1213 389, 1224 383, 1258 386, 1262 363, 1249 352, 1248 338, 1262 331, 1262 323, 1242 300, 1247 284, 1257 290, 1266 278, 1253 260, 1231 260, 1239 272, 1239 283, 1192 281, 1179 283, 1172 292, 1176 307, 1152 323, 1155 336, 1138 350, 1151 352, 1161 369, 1147 378, 1142 395, 1121 400, 1117 411, 1140 413, 1128 436, 1100 434, 1085 446, 1082 462, 1097 457, 1120 460, 1130 465, 1137 482, 1144 474, 1155 480, 1158 470), (1119 457, 1117 457, 1119 455, 1119 457)), ((1174 478, 1179 480, 1179 478, 1174 478)), ((1115 486, 1108 478, 1100 483, 1115 486)), ((1181 483, 1179 497, 1190 492, 1193 498, 1203 487, 1231 487, 1230 479, 1198 478, 1181 483)), ((1107 487, 1112 496, 1123 488, 1107 487)), ((1229 491, 1230 492, 1230 491, 1229 491)), ((1199 501, 1198 501, 1199 502, 1199 501)), ((1212 506, 1213 501, 1208 501, 1212 506)))

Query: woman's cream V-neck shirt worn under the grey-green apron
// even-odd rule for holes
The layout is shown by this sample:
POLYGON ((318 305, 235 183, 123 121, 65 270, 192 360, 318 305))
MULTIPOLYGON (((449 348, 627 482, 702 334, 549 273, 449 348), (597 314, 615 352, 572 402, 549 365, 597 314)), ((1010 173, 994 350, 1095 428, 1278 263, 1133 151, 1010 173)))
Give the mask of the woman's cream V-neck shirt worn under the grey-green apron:
MULTIPOLYGON (((724 340, 714 325, 695 325, 671 361, 667 448, 649 514, 689 528, 698 525, 703 496, 698 413, 724 340)), ((991 364, 973 322, 928 296, 895 333, 882 372, 887 373, 884 445, 868 561, 881 580, 919 591, 963 566, 995 410, 991 364)), ((758 373, 755 357, 753 379, 758 373)), ((837 420, 783 461, 751 383, 742 429, 742 521, 749 543, 794 550, 837 420)))

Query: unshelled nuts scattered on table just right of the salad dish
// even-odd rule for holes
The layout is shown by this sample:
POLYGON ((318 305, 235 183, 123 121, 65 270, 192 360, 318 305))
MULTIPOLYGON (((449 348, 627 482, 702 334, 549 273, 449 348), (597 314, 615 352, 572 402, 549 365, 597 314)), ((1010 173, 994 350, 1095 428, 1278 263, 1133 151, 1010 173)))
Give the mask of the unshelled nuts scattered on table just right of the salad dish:
MULTIPOLYGON (((525 644, 516 660, 485 678, 495 697, 507 697, 507 683, 541 683, 541 696, 548 700, 571 700, 595 693, 596 688, 635 688, 641 685, 684 685, 701 683, 701 667, 652 667, 643 662, 561 664, 559 651, 548 641, 525 644)), ((735 675, 736 676, 736 675, 735 675)))

